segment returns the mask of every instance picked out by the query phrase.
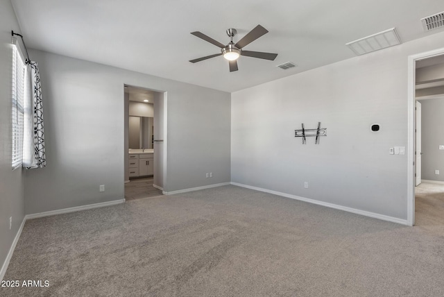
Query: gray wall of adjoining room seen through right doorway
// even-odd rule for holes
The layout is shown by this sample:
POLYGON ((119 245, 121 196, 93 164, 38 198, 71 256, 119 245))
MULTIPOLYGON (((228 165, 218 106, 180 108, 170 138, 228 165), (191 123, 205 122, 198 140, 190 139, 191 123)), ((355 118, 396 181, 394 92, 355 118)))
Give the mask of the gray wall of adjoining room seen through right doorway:
POLYGON ((444 99, 420 100, 421 103, 421 149, 423 180, 444 182, 444 99), (439 175, 435 170, 439 170, 439 175))

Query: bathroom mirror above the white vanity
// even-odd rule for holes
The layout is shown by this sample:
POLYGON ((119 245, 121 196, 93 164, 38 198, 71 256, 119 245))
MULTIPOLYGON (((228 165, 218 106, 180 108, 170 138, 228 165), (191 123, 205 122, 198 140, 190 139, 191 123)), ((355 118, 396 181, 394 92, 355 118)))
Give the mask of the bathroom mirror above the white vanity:
POLYGON ((153 117, 130 116, 128 138, 130 148, 153 148, 153 117))

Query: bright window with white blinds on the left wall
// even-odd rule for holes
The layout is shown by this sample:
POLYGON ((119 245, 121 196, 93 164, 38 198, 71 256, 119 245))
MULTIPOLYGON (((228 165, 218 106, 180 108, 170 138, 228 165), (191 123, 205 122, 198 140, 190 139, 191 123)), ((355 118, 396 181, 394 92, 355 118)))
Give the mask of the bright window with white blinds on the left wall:
POLYGON ((25 63, 17 49, 12 49, 12 169, 22 165, 23 101, 25 63))

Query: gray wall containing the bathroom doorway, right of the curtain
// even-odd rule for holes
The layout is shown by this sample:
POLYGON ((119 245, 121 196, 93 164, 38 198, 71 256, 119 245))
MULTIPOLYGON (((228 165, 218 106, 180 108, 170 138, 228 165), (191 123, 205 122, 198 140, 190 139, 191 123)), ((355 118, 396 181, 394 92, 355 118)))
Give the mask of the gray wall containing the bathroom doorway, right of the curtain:
POLYGON ((27 214, 123 198, 124 84, 168 92, 166 192, 230 181, 229 93, 30 54, 41 71, 47 166, 26 172, 27 214), (214 178, 205 178, 209 168, 214 178))

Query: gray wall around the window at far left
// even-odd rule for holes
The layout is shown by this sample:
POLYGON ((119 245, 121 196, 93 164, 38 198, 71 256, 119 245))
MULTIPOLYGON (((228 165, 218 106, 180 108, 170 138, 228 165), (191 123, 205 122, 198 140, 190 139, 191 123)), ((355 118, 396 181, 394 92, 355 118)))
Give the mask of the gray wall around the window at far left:
MULTIPOLYGON (((10 1, 0 1, 0 268, 24 219, 24 178, 11 165, 11 30, 20 33, 10 1), (9 230, 9 218, 12 228, 9 230)), ((1 278, 1 275, 0 275, 1 278)))

